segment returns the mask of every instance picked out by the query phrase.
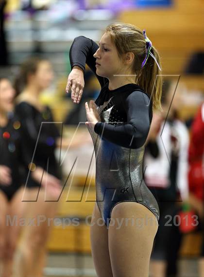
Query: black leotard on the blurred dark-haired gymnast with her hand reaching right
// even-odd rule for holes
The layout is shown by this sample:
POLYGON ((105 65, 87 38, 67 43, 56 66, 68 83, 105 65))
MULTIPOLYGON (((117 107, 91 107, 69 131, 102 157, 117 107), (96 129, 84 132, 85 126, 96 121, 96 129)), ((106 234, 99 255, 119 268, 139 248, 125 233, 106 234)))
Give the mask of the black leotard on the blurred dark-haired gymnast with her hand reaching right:
MULTIPOLYGON (((21 148, 25 166, 27 168, 25 183, 28 187, 40 186, 31 174, 30 164, 40 166, 57 178, 61 178, 59 163, 56 161, 54 151, 55 140, 60 137, 49 107, 43 112, 38 111, 28 102, 21 102, 16 106, 16 114, 21 123, 21 148), (41 123, 43 123, 41 125, 41 123), (33 159, 34 158, 34 159, 33 159)), ((32 167, 31 167, 32 168, 32 167)))

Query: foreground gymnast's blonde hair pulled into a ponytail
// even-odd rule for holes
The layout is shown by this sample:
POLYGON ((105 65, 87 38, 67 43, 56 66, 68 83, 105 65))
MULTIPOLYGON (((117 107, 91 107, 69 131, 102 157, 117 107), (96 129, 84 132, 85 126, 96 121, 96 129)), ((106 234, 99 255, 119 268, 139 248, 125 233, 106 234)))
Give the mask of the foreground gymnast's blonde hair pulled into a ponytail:
MULTIPOLYGON (((136 73, 136 83, 148 93, 153 103, 153 110, 162 110, 162 76, 153 57, 149 55, 146 64, 142 68, 142 62, 146 56, 146 41, 142 31, 127 23, 112 23, 105 29, 113 44, 116 46, 118 55, 128 52, 134 53, 133 72, 136 73)), ((155 56, 159 66, 160 56, 152 46, 151 53, 155 56)))

